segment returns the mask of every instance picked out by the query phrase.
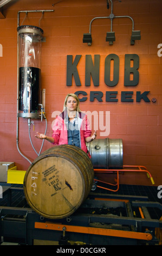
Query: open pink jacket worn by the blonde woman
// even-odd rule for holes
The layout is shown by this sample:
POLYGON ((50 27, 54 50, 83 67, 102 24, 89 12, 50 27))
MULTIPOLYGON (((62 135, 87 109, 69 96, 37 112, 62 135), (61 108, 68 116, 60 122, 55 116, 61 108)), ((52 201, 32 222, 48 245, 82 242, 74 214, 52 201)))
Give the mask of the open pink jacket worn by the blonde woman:
MULTIPOLYGON (((91 135, 92 130, 90 130, 89 121, 87 115, 82 112, 78 113, 78 127, 80 130, 80 145, 81 149, 89 155, 85 138, 91 135)), ((55 139, 54 145, 63 145, 68 144, 68 131, 66 122, 68 121, 67 118, 67 111, 63 111, 58 117, 55 119, 55 123, 53 126, 53 135, 52 137, 55 139)), ((90 157, 90 155, 89 155, 90 157)))

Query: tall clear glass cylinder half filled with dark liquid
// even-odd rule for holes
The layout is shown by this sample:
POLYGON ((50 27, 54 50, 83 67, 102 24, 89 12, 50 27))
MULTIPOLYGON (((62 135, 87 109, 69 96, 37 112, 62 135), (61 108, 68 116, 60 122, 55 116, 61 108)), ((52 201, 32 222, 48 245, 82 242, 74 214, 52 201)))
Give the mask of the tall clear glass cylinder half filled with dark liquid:
POLYGON ((40 118, 43 30, 35 26, 20 26, 17 31, 19 43, 18 117, 40 118))

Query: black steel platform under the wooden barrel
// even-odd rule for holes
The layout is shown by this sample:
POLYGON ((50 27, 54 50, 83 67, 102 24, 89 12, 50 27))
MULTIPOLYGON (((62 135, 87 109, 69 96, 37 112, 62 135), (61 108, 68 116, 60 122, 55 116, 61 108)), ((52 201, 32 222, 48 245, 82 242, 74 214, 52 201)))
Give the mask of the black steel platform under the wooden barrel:
MULTIPOLYGON (((0 237, 3 241, 32 245, 35 239, 56 240, 61 245, 69 241, 81 241, 86 245, 157 245, 155 229, 162 228, 161 198, 155 186, 120 185, 118 192, 96 188, 72 216, 61 220, 47 220, 36 214, 28 205, 23 193, 23 185, 1 184, 5 188, 0 199, 0 237), (139 212, 142 208, 145 218, 139 212), (112 209, 112 212, 109 212, 112 209), (36 228, 38 225, 62 223, 65 229, 72 227, 102 227, 114 230, 132 231, 152 235, 151 241, 114 237, 106 235, 80 234, 50 228, 36 228)), ((45 226, 46 227, 46 226, 45 226)), ((130 233, 131 234, 131 233, 130 233)))

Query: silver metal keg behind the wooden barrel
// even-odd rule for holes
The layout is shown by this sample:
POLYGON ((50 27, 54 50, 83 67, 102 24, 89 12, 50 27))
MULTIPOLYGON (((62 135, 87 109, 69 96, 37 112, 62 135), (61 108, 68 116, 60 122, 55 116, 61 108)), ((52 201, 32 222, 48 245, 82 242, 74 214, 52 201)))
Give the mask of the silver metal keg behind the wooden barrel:
POLYGON ((94 169, 122 169, 122 139, 94 139, 87 149, 94 169))

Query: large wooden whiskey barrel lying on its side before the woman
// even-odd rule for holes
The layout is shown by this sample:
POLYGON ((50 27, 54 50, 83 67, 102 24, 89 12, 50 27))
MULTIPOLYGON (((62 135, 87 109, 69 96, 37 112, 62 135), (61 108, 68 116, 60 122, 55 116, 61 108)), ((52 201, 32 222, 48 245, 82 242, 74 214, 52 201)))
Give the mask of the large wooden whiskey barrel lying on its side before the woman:
POLYGON ((72 145, 59 145, 44 151, 29 166, 24 194, 41 216, 64 218, 87 198, 93 179, 93 165, 87 154, 72 145))

